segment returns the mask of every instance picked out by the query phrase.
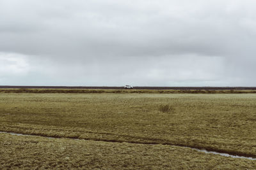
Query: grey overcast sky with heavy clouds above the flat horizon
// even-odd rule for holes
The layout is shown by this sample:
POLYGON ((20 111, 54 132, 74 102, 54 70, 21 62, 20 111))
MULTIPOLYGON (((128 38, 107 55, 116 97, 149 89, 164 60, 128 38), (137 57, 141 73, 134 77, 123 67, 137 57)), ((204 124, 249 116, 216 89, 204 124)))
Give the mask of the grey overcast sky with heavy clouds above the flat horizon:
POLYGON ((0 0, 0 85, 256 86, 256 1, 0 0))

